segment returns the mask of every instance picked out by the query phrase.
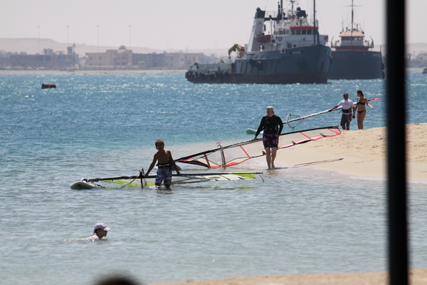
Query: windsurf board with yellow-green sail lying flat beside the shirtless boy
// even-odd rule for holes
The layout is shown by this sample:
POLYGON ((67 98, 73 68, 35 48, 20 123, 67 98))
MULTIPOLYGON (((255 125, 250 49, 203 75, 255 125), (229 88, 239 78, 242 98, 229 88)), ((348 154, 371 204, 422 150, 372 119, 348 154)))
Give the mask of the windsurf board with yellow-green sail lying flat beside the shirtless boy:
MULTIPOLYGON (((255 179, 256 175, 261 175, 263 172, 206 172, 206 173, 181 173, 180 175, 172 175, 172 185, 199 183, 207 181, 230 181, 230 180, 246 180, 255 179)), ((102 178, 82 178, 78 182, 70 185, 70 189, 83 190, 93 188, 111 188, 111 185, 127 186, 154 186, 156 175, 141 175, 133 176, 116 176, 102 178), (103 184, 100 184, 103 182, 103 184)))

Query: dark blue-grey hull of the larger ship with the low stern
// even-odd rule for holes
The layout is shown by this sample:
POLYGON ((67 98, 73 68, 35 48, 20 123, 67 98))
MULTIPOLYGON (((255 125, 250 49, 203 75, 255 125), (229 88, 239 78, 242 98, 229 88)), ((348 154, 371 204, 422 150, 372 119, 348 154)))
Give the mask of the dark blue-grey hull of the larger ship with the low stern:
POLYGON ((192 83, 327 83, 331 50, 305 46, 246 53, 234 63, 199 64, 186 72, 192 83))

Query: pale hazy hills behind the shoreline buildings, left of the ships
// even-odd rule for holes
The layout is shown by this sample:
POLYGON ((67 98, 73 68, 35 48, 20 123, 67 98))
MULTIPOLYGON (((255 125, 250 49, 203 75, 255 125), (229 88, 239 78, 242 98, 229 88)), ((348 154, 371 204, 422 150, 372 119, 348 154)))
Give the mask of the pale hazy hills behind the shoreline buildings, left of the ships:
MULTIPOLYGON (((70 43, 71 45, 72 43, 70 43)), ((43 53, 44 48, 51 48, 53 51, 63 51, 67 53, 67 43, 59 43, 49 38, 0 38, 0 51, 8 51, 12 53, 25 52, 28 54, 43 53)), ((107 49, 117 49, 118 46, 100 46, 99 51, 103 52, 107 49)), ((163 53, 164 50, 156 48, 139 48, 131 47, 134 53, 163 53)), ((97 46, 88 46, 84 43, 75 43, 75 53, 79 56, 85 56, 86 53, 96 53, 98 51, 97 46)), ((206 53, 208 55, 214 53, 219 56, 227 55, 228 48, 218 49, 199 49, 182 51, 189 53, 206 53)), ((179 52, 178 50, 167 50, 168 53, 179 52)))

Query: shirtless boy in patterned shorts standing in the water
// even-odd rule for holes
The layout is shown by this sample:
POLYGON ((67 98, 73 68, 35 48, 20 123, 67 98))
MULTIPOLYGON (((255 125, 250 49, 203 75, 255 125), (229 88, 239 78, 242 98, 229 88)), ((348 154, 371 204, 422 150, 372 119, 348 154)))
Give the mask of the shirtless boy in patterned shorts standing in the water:
POLYGON ((153 157, 152 164, 149 165, 145 177, 149 175, 149 172, 153 169, 154 165, 157 163, 157 175, 155 185, 160 187, 162 182, 164 182, 164 187, 166 189, 171 189, 172 182, 172 167, 176 170, 176 174, 181 174, 179 168, 176 166, 174 159, 172 158, 172 152, 170 150, 164 149, 164 141, 156 140, 155 142, 156 149, 158 150, 153 157))

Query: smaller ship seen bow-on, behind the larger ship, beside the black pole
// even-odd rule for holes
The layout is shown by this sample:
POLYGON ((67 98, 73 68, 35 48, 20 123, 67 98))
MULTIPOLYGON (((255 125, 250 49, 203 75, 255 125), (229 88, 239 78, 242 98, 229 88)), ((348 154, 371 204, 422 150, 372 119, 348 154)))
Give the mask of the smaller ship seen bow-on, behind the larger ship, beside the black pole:
POLYGON ((332 62, 329 79, 376 79, 384 78, 384 63, 381 51, 372 51, 374 40, 365 40, 359 24, 354 24, 352 0, 352 22, 343 27, 339 40, 331 40, 332 62))

